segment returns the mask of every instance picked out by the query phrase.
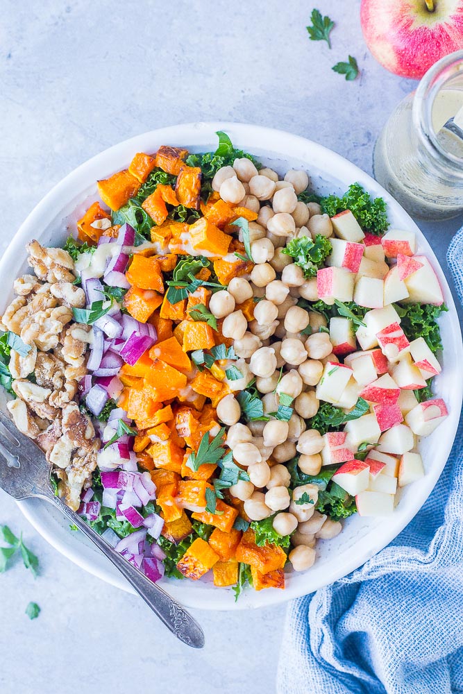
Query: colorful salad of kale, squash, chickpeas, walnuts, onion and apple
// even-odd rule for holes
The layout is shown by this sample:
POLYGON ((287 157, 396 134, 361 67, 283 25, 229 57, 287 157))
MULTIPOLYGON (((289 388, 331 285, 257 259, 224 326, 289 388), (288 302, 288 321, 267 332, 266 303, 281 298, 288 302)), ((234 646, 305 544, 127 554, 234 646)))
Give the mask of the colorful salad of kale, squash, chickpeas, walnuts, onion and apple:
POLYGON ((414 232, 237 151, 99 180, 1 316, 1 384, 56 493, 154 581, 257 591, 424 475, 446 310, 414 232), (348 522, 348 521, 347 521, 348 522))

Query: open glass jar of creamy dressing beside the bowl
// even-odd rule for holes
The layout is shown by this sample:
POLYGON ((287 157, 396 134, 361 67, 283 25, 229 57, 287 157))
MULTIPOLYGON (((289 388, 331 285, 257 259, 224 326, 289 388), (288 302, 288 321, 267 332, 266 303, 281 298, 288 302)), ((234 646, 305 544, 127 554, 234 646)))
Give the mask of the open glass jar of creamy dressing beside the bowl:
POLYGON ((463 51, 428 70, 376 142, 376 180, 415 217, 449 219, 463 210, 463 133, 444 128, 453 117, 463 128, 463 51))

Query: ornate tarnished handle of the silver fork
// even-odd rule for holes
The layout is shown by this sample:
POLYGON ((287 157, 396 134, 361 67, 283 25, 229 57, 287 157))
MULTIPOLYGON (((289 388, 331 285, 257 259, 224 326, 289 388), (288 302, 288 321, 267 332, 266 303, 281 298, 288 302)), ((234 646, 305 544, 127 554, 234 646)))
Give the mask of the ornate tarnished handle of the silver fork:
POLYGON ((69 521, 74 523, 103 552, 103 555, 108 557, 111 563, 119 569, 133 589, 151 607, 153 612, 170 629, 174 636, 186 643, 186 645, 192 646, 192 648, 203 648, 203 630, 182 605, 171 598, 170 595, 167 595, 160 586, 150 581, 135 566, 129 564, 124 557, 119 555, 119 552, 116 552, 108 545, 106 540, 92 530, 90 525, 87 525, 80 516, 71 511, 60 498, 51 496, 51 494, 43 498, 58 507, 69 518, 69 521))

